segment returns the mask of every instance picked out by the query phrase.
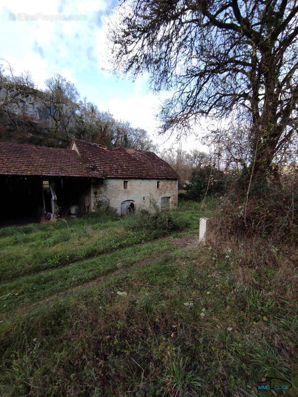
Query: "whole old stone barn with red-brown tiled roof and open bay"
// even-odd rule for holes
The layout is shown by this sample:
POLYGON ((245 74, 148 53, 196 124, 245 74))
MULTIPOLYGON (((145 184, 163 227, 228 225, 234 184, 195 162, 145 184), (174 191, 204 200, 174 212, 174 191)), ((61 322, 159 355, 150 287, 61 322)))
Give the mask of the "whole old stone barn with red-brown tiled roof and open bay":
POLYGON ((80 215, 99 203, 118 214, 177 205, 178 176, 156 154, 74 139, 69 149, 0 142, 0 220, 80 215))

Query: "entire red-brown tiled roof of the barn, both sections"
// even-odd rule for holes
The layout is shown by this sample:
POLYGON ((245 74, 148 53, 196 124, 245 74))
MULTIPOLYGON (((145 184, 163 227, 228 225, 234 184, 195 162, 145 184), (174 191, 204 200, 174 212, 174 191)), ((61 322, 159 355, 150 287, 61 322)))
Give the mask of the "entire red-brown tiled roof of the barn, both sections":
POLYGON ((71 149, 0 142, 0 174, 178 178, 175 171, 152 152, 122 147, 108 149, 79 139, 74 139, 74 143, 78 153, 71 149))

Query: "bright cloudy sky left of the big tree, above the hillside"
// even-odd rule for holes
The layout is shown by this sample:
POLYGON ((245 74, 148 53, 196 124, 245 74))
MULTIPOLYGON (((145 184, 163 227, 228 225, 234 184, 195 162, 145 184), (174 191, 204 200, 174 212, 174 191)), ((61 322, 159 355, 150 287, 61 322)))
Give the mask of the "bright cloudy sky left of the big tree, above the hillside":
MULTIPOLYGON (((8 62, 16 75, 28 70, 39 88, 59 73, 74 83, 81 98, 145 129, 161 149, 177 146, 174 136, 156 133, 158 108, 169 93, 150 92, 146 74, 132 81, 109 71, 106 34, 115 1, 2 0, 0 64, 8 62)), ((183 138, 182 148, 204 150, 193 134, 183 138)))

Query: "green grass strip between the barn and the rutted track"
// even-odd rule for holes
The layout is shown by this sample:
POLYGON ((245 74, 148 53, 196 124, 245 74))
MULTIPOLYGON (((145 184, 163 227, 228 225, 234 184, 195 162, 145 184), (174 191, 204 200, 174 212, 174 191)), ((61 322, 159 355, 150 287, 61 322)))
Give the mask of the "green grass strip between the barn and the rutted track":
MULTIPOLYGON (((69 223, 0 229, 0 280, 69 265, 171 233, 166 229, 132 231, 131 224, 138 222, 141 215, 112 220, 101 215, 88 215, 69 223)), ((171 217, 177 224, 175 230, 185 228, 182 218, 189 228, 198 228, 198 211, 172 211, 171 217)))

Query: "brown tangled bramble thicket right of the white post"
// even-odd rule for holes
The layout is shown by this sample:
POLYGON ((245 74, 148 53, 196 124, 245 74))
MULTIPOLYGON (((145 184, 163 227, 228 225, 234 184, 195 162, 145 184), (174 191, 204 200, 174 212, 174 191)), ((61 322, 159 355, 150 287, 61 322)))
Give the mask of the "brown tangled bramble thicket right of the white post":
POLYGON ((298 189, 268 185, 262 194, 249 196, 230 192, 221 204, 213 228, 223 238, 259 236, 272 241, 295 242, 298 237, 298 189))

